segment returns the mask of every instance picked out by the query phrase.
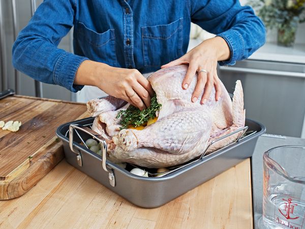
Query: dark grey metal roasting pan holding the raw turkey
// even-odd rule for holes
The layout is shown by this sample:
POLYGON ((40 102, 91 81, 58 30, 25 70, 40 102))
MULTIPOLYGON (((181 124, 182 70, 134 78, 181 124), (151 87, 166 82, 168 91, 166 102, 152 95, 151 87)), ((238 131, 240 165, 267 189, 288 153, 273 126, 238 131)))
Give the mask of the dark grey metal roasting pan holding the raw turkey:
MULTIPOLYGON (((198 185, 216 177, 223 171, 252 156, 258 137, 266 128, 253 120, 246 119, 247 128, 238 141, 173 169, 162 177, 140 177, 117 164, 102 160, 100 156, 88 150, 81 142, 88 138, 99 137, 91 130, 94 118, 86 118, 59 126, 56 135, 63 140, 64 152, 68 163, 97 180, 129 202, 144 208, 156 208, 186 193, 198 185)), ((240 130, 241 131, 241 130, 240 130)), ((212 142, 211 142, 212 143, 212 142)), ((103 144, 103 155, 107 145, 103 144)), ((147 169, 149 170, 149 169, 147 169)))

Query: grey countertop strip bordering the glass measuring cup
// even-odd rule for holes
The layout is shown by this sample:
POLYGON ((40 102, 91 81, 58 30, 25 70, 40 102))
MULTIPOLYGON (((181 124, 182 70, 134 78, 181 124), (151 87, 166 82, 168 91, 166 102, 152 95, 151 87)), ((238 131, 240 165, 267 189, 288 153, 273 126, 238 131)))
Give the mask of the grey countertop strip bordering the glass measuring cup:
POLYGON ((263 134, 259 137, 251 158, 254 228, 259 229, 258 220, 263 209, 263 153, 267 150, 284 145, 305 146, 305 139, 281 135, 263 134))

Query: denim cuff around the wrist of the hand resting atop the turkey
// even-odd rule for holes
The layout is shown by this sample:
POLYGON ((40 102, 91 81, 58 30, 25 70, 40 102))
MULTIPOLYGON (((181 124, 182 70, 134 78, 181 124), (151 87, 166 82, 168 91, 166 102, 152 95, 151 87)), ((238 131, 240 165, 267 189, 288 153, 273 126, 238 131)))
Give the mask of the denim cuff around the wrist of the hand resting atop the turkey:
POLYGON ((227 42, 230 49, 230 59, 227 61, 220 61, 219 65, 234 65, 236 61, 242 60, 245 52, 245 42, 241 34, 233 29, 227 30, 217 35, 222 37, 227 42))

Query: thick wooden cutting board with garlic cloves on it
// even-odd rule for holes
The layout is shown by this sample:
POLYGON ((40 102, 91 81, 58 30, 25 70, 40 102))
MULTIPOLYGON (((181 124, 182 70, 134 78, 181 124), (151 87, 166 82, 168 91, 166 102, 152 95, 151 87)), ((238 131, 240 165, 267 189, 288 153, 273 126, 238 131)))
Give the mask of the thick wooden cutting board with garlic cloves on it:
POLYGON ((58 126, 88 117, 82 103, 11 96, 0 100, 0 120, 21 121, 17 132, 0 129, 0 199, 31 189, 64 158, 58 126))

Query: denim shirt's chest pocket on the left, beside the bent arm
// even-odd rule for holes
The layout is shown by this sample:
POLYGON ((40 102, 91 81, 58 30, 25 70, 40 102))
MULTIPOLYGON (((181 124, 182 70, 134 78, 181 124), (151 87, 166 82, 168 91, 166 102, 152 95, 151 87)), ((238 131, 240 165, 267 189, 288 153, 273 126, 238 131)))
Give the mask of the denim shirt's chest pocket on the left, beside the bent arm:
POLYGON ((117 66, 113 28, 104 33, 97 33, 86 27, 84 23, 78 22, 76 40, 81 53, 90 60, 117 66))

